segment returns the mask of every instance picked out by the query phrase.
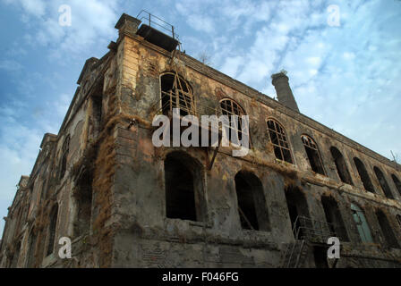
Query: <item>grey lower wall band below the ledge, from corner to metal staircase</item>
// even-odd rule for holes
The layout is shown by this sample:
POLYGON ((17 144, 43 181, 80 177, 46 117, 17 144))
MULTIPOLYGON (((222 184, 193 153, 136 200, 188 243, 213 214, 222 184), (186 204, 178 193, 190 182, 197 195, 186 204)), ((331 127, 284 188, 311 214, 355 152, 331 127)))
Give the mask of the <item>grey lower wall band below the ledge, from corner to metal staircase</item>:
POLYGON ((261 248, 132 239, 115 240, 114 267, 276 267, 280 252, 261 248), (130 250, 128 250, 130 249, 130 250))

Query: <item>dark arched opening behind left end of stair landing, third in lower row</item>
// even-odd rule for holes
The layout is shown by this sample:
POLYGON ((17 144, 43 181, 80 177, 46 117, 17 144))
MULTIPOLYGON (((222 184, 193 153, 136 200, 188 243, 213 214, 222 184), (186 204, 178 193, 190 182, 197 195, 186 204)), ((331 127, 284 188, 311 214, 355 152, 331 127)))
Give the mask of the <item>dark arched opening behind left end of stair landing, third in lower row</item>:
POLYGON ((303 193, 294 187, 286 189, 286 206, 288 207, 288 213, 291 220, 291 229, 293 230, 294 239, 303 239, 305 233, 303 233, 301 221, 298 216, 309 217, 308 203, 303 193), (299 230, 298 237, 295 237, 295 231, 299 230))

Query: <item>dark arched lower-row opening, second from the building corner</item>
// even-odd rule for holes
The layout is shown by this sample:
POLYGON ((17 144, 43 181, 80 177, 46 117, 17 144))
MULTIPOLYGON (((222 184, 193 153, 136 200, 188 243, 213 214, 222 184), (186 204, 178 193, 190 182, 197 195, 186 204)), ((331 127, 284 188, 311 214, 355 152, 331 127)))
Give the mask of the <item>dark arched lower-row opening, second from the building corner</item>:
POLYGON ((235 175, 235 190, 243 229, 269 231, 266 199, 259 178, 252 172, 238 172, 235 175))

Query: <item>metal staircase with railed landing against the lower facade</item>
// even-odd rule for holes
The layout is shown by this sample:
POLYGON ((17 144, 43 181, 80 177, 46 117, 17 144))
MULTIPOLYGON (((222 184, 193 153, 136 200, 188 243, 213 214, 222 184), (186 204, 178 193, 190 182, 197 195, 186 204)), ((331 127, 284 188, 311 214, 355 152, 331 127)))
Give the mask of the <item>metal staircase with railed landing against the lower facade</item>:
POLYGON ((311 245, 326 244, 329 237, 336 236, 330 229, 327 222, 297 216, 293 227, 295 240, 284 245, 279 267, 302 267, 311 245))

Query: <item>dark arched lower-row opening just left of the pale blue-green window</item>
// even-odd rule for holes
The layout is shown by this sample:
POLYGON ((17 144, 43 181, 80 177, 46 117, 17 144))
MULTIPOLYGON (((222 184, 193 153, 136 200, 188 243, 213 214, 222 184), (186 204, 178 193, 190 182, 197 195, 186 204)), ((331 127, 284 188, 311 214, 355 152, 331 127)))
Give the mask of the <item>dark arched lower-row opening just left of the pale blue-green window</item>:
POLYGON ((341 241, 349 241, 346 226, 338 208, 337 201, 331 197, 322 197, 321 204, 326 215, 326 221, 331 232, 334 232, 341 241))

